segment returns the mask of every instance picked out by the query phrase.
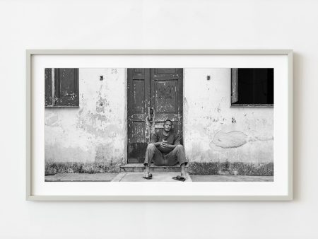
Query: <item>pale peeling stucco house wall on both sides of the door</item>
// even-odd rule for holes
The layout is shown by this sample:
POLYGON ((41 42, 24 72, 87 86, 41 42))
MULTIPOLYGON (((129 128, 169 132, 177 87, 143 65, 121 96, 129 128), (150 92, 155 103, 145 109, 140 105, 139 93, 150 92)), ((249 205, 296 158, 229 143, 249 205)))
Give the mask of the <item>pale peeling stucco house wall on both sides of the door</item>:
MULTIPOLYGON (((79 69, 79 92, 46 107, 45 160, 126 163, 126 69, 79 69)), ((192 162, 272 162, 273 108, 230 107, 230 69, 184 69, 184 146, 192 162)))

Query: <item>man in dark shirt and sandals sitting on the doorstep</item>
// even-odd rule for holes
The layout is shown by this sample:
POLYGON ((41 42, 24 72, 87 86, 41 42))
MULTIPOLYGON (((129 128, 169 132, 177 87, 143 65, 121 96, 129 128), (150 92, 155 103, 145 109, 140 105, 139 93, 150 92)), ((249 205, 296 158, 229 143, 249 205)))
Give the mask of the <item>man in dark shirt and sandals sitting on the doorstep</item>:
POLYGON ((186 180, 185 166, 188 161, 185 157, 184 148, 180 144, 180 137, 172 131, 172 121, 167 119, 163 124, 163 129, 151 136, 151 141, 147 146, 145 156, 145 172, 143 178, 151 179, 150 165, 176 165, 180 163, 181 175, 172 177, 175 180, 186 180))

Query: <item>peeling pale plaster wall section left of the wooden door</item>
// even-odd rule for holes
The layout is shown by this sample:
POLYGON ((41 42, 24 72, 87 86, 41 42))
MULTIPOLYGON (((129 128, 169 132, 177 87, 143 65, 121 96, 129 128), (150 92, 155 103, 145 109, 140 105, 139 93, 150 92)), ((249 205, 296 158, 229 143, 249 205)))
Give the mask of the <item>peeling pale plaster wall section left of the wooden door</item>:
POLYGON ((78 81, 79 107, 45 108, 45 161, 122 163, 126 69, 79 69, 78 81))

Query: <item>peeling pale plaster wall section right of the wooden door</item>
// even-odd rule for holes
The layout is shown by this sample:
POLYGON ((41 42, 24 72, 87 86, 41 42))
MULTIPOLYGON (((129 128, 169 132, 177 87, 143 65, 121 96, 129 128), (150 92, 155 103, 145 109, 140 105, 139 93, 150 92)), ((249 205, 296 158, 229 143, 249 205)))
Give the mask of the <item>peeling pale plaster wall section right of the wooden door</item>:
POLYGON ((230 69, 184 69, 186 155, 198 162, 273 162, 273 108, 230 107, 230 76, 230 69))

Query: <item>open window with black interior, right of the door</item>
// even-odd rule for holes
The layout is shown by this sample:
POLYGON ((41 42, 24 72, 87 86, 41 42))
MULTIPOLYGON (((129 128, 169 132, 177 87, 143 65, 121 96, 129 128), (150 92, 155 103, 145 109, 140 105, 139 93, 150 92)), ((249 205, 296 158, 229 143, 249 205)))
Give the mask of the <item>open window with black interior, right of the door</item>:
POLYGON ((273 107, 273 68, 232 68, 232 107, 273 107))

